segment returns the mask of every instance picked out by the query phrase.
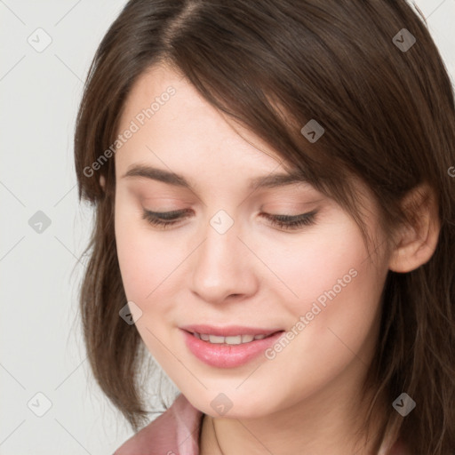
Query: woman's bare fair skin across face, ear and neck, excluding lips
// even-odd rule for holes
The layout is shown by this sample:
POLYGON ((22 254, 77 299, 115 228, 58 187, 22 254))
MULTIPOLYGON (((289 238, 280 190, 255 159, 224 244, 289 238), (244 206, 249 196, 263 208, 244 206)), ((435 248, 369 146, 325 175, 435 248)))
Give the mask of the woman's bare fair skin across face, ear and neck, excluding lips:
POLYGON ((285 172, 282 158, 169 67, 150 68, 134 84, 119 131, 169 85, 175 95, 116 151, 116 245, 126 296, 142 311, 141 338, 205 414, 201 455, 372 453, 354 433, 363 423, 358 392, 378 338, 380 293, 388 269, 411 270, 431 257, 437 217, 428 209, 419 231, 401 231, 392 243, 357 182, 376 248, 369 256, 355 221, 308 184, 251 192, 251 178, 285 172), (194 190, 123 177, 138 163, 182 174, 194 190), (162 229, 142 219, 144 209, 191 212, 162 229), (297 230, 259 216, 314 209, 315 223, 297 230), (223 235, 210 225, 220 210, 234 220, 223 235), (351 268, 355 278, 273 360, 260 355, 217 369, 184 343, 179 327, 190 323, 291 330, 351 268), (233 403, 224 416, 211 406, 221 392, 233 403))

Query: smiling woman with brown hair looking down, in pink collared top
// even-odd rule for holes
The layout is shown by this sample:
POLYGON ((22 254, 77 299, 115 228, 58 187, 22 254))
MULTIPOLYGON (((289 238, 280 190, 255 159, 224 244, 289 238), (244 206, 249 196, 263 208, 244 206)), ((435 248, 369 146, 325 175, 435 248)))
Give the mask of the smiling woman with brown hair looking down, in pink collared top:
POLYGON ((75 154, 117 455, 455 449, 454 98, 409 4, 132 0, 75 154), (143 427, 147 353, 181 394, 143 427))

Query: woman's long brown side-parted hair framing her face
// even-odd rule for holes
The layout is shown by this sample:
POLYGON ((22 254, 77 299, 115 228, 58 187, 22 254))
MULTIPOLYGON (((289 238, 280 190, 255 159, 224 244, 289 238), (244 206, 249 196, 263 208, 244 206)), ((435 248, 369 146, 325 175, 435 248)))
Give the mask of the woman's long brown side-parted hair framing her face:
POLYGON ((378 447, 389 429, 412 453, 447 455, 455 448, 455 180, 448 172, 455 108, 425 20, 404 0, 124 6, 92 61, 75 159, 79 198, 96 207, 80 295, 84 341, 95 379, 135 431, 147 416, 139 378, 144 348, 134 325, 119 317, 126 297, 116 256, 114 160, 87 169, 116 140, 132 84, 158 63, 171 64, 212 106, 266 140, 285 164, 342 204, 365 235, 349 176, 371 188, 386 233, 415 221, 400 204, 412 188, 426 182, 435 190, 435 253, 409 273, 388 272, 365 387, 377 391, 370 411, 379 397, 390 403, 378 447), (403 28, 416 40, 409 49, 394 38, 403 42, 403 28), (313 143, 300 132, 311 119, 325 130, 313 143), (405 418, 392 408, 403 391, 418 403, 405 418))

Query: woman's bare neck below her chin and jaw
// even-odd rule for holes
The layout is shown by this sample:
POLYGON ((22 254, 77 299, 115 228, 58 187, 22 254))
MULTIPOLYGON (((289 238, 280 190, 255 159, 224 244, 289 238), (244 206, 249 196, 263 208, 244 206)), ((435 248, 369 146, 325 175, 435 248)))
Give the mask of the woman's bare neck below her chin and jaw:
POLYGON ((358 396, 361 384, 351 384, 348 390, 347 387, 340 388, 339 381, 340 378, 323 392, 259 419, 205 415, 201 455, 375 455, 375 439, 382 419, 373 419, 379 424, 371 428, 367 437, 361 431, 365 403, 358 403, 353 398, 358 396))

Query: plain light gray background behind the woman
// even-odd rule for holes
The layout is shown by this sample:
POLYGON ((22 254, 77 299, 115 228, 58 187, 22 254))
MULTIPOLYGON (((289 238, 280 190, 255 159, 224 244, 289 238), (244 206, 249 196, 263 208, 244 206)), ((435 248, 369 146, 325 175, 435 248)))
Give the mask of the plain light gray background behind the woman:
MULTIPOLYGON (((78 204, 72 147, 84 78, 124 4, 0 0, 1 455, 108 455, 132 435, 92 379, 76 319, 92 211, 78 204), (43 52, 28 44, 45 43, 37 28, 52 38, 43 52), (42 233, 28 224, 38 211, 42 233), (52 403, 43 417, 37 393, 52 403)), ((455 0, 416 4, 455 81, 455 0)))

